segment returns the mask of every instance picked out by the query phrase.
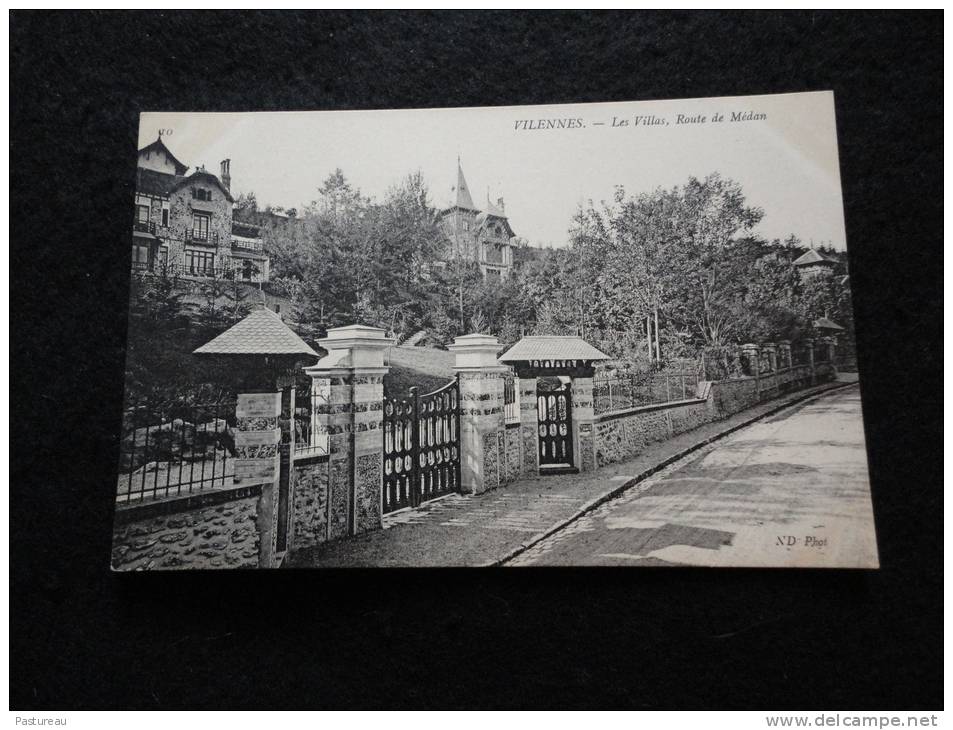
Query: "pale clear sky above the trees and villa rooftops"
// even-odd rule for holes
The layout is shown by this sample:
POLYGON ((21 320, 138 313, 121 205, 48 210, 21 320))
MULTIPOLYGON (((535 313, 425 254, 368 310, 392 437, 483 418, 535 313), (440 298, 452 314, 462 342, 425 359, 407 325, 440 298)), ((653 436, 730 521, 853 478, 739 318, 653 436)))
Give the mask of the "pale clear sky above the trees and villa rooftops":
POLYGON ((445 207, 459 157, 477 207, 488 192, 493 201, 502 197, 517 235, 564 246, 578 206, 610 200, 616 185, 635 194, 719 172, 741 184, 749 205, 764 209, 760 235, 794 233, 805 244, 845 248, 831 92, 470 109, 149 112, 140 117, 139 147, 160 129, 172 153, 193 168, 218 174, 219 162, 230 158, 233 194, 254 191, 262 206, 301 209, 340 167, 378 199, 419 170, 431 202, 445 207), (731 121, 733 112, 766 118, 731 121), (723 121, 715 121, 718 114, 723 121), (642 123, 646 117, 665 123, 642 123), (552 121, 536 128, 540 120, 552 121), (556 120, 563 128, 547 128, 556 120), (566 120, 577 121, 568 128, 566 120))

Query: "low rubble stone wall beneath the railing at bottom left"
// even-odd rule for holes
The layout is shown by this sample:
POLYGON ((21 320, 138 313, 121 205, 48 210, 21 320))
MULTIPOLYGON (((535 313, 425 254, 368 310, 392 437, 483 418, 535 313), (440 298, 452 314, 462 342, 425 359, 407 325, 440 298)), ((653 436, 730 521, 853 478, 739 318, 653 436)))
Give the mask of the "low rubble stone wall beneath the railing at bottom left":
POLYGON ((274 486, 216 490, 116 510, 112 568, 259 568, 274 539, 274 486))

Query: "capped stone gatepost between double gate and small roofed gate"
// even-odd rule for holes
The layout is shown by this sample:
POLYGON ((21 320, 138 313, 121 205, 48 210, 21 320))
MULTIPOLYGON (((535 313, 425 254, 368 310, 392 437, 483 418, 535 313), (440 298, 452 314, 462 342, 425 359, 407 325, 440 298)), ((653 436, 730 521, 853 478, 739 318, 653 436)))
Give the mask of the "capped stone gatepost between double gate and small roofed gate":
POLYGON ((447 347, 460 383, 460 487, 479 494, 506 482, 505 375, 492 335, 464 335, 447 347))

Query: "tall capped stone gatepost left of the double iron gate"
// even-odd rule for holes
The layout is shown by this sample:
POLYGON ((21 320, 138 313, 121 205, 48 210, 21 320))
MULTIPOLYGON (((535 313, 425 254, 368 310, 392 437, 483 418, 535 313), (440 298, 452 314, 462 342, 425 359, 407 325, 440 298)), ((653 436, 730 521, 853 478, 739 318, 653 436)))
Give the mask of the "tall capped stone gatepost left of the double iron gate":
POLYGON ((328 330, 328 354, 305 368, 315 399, 312 428, 328 435, 328 539, 381 527, 384 351, 393 345, 377 327, 328 330))

